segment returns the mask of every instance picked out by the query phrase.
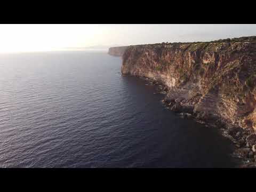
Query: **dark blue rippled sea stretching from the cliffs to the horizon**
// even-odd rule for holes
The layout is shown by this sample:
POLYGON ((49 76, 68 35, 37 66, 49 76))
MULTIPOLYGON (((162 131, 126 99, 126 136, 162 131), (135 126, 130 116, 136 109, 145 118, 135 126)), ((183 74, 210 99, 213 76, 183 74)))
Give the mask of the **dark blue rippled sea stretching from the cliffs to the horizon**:
POLYGON ((0 167, 233 167, 230 141, 182 119, 105 52, 0 55, 0 167))

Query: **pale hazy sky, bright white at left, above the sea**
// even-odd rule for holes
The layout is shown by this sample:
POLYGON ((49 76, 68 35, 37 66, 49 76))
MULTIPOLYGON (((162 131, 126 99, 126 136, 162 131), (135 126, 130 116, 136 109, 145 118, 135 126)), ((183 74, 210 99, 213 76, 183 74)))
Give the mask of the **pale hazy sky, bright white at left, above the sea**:
POLYGON ((211 41, 256 35, 256 25, 0 25, 0 52, 211 41))

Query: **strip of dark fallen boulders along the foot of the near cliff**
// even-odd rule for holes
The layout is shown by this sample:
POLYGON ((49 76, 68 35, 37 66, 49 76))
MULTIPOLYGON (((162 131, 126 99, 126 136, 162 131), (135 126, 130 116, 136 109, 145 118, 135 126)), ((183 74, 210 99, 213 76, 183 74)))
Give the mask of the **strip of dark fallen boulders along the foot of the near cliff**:
MULTIPOLYGON (((169 91, 169 87, 165 86, 162 82, 147 77, 140 78, 147 81, 146 85, 157 85, 157 92, 154 94, 166 95, 169 91)), ((194 119, 201 124, 205 124, 205 126, 218 129, 221 135, 228 138, 233 143, 234 151, 231 155, 234 158, 239 159, 238 167, 256 168, 256 134, 253 131, 243 129, 224 119, 207 116, 204 111, 195 113, 190 108, 181 105, 181 102, 184 101, 180 99, 170 100, 166 96, 162 100, 162 103, 166 108, 174 111, 181 118, 194 119)))

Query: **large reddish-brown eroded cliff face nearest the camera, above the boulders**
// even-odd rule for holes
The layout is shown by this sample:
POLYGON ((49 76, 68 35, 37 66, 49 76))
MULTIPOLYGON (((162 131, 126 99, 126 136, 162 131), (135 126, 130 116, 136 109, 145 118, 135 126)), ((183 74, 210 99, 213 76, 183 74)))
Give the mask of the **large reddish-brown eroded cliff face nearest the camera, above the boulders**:
POLYGON ((256 36, 129 46, 121 71, 162 82, 175 110, 256 131, 256 36))

